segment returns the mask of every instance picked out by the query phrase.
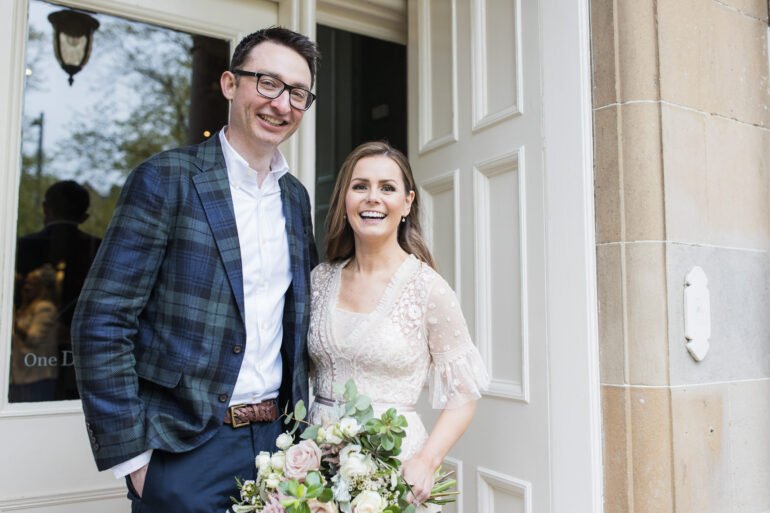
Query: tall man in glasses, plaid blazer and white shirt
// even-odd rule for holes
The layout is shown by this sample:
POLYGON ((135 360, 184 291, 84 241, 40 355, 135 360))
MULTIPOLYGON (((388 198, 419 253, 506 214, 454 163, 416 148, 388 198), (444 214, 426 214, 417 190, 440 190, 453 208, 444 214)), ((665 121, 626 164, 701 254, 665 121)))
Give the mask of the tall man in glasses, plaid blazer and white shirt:
POLYGON ((235 477, 307 402, 317 261, 310 200, 277 147, 314 95, 318 51, 280 27, 247 36, 220 79, 230 121, 129 176, 73 322, 100 470, 132 511, 221 512, 235 477))

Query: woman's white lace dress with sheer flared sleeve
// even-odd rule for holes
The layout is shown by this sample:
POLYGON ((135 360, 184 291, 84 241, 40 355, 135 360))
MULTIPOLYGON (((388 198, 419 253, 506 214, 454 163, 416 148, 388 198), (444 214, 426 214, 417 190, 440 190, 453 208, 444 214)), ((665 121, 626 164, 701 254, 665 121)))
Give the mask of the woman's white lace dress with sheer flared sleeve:
POLYGON ((352 378, 375 414, 391 406, 404 414, 409 425, 401 459, 407 460, 428 437, 414 411, 425 381, 434 408, 457 408, 481 396, 486 371, 454 292, 430 266, 410 255, 374 311, 355 313, 337 307, 345 264, 324 263, 312 274, 308 350, 320 400, 310 420, 333 418, 333 407, 323 403, 335 399, 335 383, 352 378))

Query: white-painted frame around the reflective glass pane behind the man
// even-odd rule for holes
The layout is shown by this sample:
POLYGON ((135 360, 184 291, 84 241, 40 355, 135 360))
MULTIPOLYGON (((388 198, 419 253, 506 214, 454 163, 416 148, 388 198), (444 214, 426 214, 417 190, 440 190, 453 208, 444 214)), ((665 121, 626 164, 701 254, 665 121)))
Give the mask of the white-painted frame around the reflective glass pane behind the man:
MULTIPOLYGON (((108 13, 154 25, 231 41, 282 21, 291 26, 293 7, 269 0, 61 0, 58 4, 108 13), (279 10, 281 13, 279 15, 279 10)), ((0 0, 0 64, 13 70, 0 82, 0 97, 14 108, 22 105, 26 0, 0 0)), ((231 48, 232 50, 232 48, 231 48)), ((21 113, 3 115, 7 131, 0 136, 5 215, 0 224, 3 243, 0 362, 9 361, 13 290, 18 148, 21 113)), ((0 512, 103 513, 128 512, 125 483, 110 472, 98 473, 93 462, 79 401, 8 404, 7 365, 0 366, 0 512)))

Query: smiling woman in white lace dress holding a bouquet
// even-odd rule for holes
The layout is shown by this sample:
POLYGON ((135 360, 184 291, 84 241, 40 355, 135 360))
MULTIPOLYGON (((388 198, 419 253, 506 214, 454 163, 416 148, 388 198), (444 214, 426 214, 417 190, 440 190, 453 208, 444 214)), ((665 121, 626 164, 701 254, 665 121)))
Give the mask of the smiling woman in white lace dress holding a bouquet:
POLYGON ((368 142, 345 160, 332 194, 326 255, 312 277, 311 421, 333 416, 333 385, 351 378, 375 413, 395 406, 409 424, 404 478, 413 502, 421 503, 488 378, 454 292, 433 269, 401 152, 368 142), (443 409, 430 436, 414 409, 426 379, 433 407, 443 409))

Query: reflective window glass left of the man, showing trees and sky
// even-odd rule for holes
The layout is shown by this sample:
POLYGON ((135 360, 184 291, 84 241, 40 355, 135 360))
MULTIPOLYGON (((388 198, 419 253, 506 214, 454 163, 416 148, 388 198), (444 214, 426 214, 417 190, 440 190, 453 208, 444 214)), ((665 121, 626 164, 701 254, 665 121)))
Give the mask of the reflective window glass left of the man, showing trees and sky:
POLYGON ((78 398, 69 329, 127 174, 227 122, 229 43, 100 13, 72 86, 51 13, 29 3, 10 402, 78 398))

